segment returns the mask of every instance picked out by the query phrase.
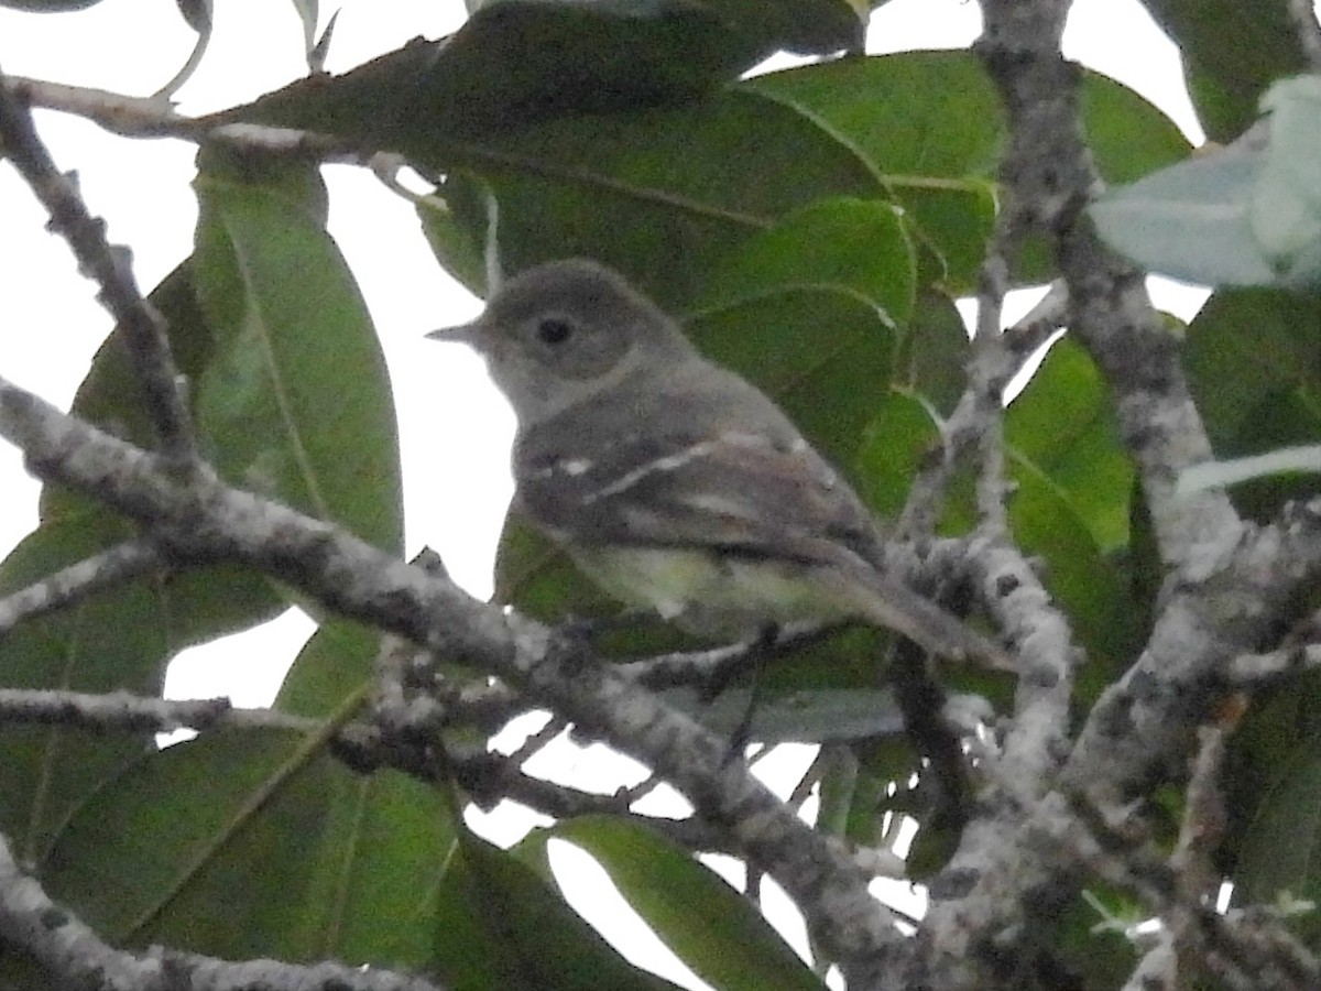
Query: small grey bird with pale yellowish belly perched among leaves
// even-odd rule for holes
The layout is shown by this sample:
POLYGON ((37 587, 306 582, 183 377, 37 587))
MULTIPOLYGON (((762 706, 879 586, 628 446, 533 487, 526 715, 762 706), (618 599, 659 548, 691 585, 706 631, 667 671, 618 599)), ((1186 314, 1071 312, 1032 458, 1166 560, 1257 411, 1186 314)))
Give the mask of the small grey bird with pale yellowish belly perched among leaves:
POLYGON ((1011 666, 888 576, 875 521, 789 418, 617 272, 538 266, 428 336, 486 358, 518 418, 518 503, 617 599, 708 637, 863 620, 1011 666))

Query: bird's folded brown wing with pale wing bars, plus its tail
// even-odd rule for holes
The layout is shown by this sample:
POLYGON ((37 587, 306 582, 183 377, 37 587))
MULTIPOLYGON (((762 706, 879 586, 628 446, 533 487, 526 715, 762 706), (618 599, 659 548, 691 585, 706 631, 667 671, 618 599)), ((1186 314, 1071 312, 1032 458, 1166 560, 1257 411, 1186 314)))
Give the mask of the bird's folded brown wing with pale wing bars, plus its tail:
POLYGON ((797 435, 787 445, 757 435, 622 435, 594 451, 517 460, 524 510, 557 539, 818 566, 814 580, 859 618, 947 657, 1012 667, 999 647, 884 572, 867 510, 797 435))

